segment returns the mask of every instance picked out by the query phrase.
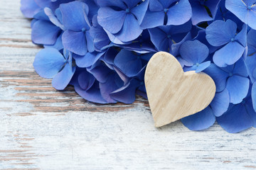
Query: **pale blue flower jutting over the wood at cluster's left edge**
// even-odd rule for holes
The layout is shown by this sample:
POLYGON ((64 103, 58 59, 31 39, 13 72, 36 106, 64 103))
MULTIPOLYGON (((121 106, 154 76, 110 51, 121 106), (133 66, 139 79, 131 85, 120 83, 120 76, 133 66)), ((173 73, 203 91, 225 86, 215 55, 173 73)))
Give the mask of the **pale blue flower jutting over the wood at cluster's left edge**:
POLYGON ((71 52, 64 50, 62 55, 54 48, 45 48, 38 52, 33 67, 41 77, 53 79, 53 87, 57 90, 63 90, 68 86, 76 68, 73 67, 71 52))

